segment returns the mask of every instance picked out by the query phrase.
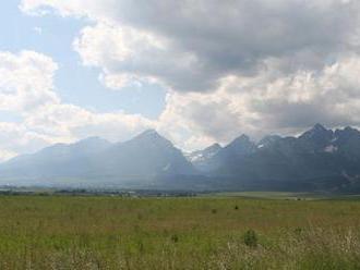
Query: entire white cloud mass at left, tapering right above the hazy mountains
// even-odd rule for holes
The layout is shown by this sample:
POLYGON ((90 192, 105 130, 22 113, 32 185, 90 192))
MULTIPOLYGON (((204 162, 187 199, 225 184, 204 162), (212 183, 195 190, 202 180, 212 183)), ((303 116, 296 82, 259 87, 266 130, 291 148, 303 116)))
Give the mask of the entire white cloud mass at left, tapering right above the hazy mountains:
POLYGON ((20 115, 16 122, 0 121, 0 160, 88 136, 123 140, 154 127, 141 115, 99 113, 62 102, 53 85, 57 69, 41 53, 0 51, 0 107, 20 115))

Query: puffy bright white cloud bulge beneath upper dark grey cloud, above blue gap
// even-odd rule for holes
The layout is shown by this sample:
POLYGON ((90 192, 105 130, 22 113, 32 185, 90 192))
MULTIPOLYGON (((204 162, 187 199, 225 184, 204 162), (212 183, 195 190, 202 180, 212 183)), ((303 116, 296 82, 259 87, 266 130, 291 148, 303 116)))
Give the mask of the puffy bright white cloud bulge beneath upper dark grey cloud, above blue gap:
POLYGON ((82 30, 74 49, 85 65, 103 69, 103 82, 110 88, 136 81, 163 84, 175 90, 195 90, 211 84, 196 57, 176 50, 169 42, 148 32, 99 23, 82 30), (189 81, 190 75, 196 79, 189 81))

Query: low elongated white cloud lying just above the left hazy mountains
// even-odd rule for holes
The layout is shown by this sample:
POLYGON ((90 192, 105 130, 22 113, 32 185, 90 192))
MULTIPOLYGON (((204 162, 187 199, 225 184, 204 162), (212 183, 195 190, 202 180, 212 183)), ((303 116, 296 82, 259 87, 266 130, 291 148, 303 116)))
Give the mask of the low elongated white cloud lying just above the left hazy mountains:
POLYGON ((130 138, 155 123, 123 112, 98 113, 73 105, 49 105, 26 118, 26 126, 61 142, 101 136, 112 142, 130 138))

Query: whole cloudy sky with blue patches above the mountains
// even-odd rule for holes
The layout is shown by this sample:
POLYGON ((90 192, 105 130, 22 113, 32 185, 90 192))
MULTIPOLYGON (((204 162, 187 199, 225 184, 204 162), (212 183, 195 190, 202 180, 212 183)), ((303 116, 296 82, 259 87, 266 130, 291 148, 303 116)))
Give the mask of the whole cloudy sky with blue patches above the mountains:
POLYGON ((358 0, 12 0, 0 33, 0 161, 147 128, 189 151, 360 126, 358 0))

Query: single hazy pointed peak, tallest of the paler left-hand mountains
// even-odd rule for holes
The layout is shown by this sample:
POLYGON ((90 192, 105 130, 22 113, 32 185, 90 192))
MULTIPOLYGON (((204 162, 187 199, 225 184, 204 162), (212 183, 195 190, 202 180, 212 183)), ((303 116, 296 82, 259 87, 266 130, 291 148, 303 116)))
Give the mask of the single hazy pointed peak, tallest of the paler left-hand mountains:
POLYGON ((98 165, 109 177, 154 179, 157 175, 195 173, 182 152, 153 130, 101 152, 94 164, 95 168, 98 165))

